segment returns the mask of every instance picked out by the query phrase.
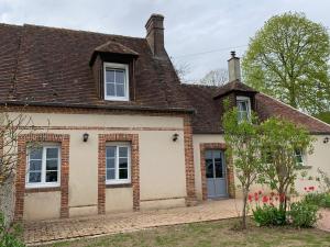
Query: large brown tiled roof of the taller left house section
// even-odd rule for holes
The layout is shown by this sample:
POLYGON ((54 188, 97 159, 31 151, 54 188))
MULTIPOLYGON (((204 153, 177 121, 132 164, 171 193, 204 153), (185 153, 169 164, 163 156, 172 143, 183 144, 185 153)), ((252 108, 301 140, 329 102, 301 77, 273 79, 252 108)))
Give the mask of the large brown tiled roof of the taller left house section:
POLYGON ((0 36, 1 102, 10 98, 30 104, 189 108, 168 56, 155 58, 145 38, 7 24, 0 24, 0 36), (95 49, 139 54, 134 101, 98 98, 89 66, 95 49))

